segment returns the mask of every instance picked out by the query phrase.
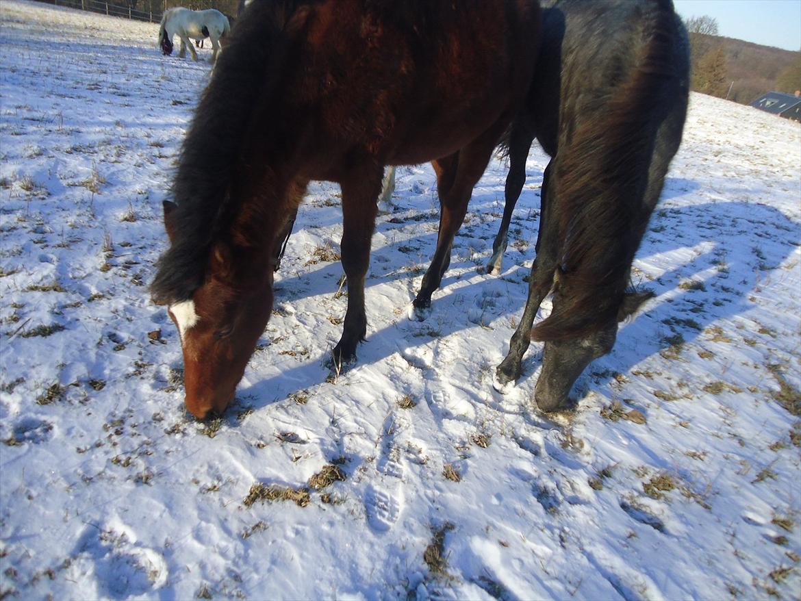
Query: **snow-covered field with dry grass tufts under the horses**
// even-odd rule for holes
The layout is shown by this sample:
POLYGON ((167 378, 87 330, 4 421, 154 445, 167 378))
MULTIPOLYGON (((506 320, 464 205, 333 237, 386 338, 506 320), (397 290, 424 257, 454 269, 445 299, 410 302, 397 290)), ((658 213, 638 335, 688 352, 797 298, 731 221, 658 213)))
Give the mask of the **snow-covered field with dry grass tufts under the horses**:
POLYGON ((163 57, 156 30, 0 3, 0 599, 801 596, 798 123, 693 95, 635 262, 658 296, 556 417, 530 400, 541 345, 511 393, 491 384, 538 148, 502 276, 479 269, 496 161, 422 323, 436 186, 399 169, 368 341, 336 384, 339 192, 316 184, 237 401, 203 424, 147 284, 210 67, 163 57))

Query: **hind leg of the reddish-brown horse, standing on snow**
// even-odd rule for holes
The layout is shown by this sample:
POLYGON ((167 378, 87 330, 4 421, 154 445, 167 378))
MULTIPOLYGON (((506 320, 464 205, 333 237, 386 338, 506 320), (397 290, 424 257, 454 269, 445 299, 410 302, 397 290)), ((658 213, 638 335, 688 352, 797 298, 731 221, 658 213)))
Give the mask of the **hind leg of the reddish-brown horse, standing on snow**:
POLYGON ((458 155, 433 161, 437 171, 437 189, 440 195, 440 229, 437 236, 437 249, 431 265, 414 299, 418 319, 425 319, 431 308, 431 295, 440 287, 442 276, 450 264, 453 236, 461 227, 467 213, 467 204, 473 193, 473 186, 481 179, 495 148, 497 131, 495 128, 485 132, 480 138, 469 143, 458 155))

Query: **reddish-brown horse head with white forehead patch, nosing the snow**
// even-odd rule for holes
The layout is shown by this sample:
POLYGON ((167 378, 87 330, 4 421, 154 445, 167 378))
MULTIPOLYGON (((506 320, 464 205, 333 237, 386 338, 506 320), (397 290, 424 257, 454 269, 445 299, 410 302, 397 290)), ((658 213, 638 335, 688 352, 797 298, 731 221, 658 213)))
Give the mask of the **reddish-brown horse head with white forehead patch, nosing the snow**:
MULTIPOLYGON (((175 243, 178 205, 165 201, 164 225, 175 243)), ((203 283, 189 298, 167 300, 183 351, 189 413, 222 414, 234 398, 256 342, 272 311, 272 269, 244 260, 233 244, 217 241, 207 256, 203 283)), ((159 299, 157 299, 159 300, 159 299)))

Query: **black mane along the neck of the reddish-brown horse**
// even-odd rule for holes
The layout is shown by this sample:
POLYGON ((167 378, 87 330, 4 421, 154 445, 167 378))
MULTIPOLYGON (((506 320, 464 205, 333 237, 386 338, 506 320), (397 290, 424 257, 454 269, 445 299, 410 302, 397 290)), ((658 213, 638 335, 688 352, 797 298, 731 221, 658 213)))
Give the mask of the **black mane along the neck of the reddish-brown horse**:
POLYGON ((276 95, 288 46, 308 17, 308 9, 295 5, 257 2, 219 55, 180 153, 172 187, 175 236, 151 284, 156 303, 187 300, 203 284, 211 245, 239 200, 231 184, 242 146, 257 111, 276 95))

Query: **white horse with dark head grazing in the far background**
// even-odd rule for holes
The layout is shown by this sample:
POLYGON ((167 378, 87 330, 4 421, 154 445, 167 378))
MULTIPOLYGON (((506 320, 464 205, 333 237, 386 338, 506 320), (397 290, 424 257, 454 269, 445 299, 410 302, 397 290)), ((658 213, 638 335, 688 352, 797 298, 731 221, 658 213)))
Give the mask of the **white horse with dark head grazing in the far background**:
POLYGON ((179 57, 183 58, 187 54, 187 48, 192 60, 197 60, 198 55, 191 40, 203 40, 211 38, 211 58, 209 63, 217 60, 219 50, 219 39, 223 38, 231 30, 228 18, 213 8, 207 10, 189 10, 183 6, 176 6, 164 11, 159 27, 159 47, 164 54, 172 54, 172 36, 178 35, 181 38, 181 51, 179 57))

